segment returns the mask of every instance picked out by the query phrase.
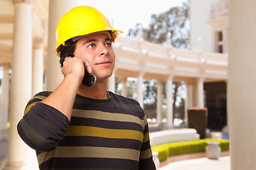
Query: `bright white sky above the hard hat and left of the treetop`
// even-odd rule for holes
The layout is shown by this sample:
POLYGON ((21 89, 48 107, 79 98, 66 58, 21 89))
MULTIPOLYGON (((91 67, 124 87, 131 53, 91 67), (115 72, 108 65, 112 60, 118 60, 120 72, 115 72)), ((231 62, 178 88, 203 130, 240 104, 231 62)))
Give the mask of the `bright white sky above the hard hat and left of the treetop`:
POLYGON ((77 0, 78 6, 92 6, 97 8, 108 18, 112 27, 122 30, 121 36, 126 36, 130 28, 135 28, 136 23, 142 27, 149 26, 151 15, 168 11, 174 6, 181 6, 186 0, 77 0))

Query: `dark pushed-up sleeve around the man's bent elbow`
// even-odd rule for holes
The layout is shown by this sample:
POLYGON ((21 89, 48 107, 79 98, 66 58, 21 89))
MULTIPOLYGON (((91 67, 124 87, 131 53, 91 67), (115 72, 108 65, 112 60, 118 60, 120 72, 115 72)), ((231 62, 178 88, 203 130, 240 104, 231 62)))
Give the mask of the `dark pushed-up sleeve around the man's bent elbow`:
POLYGON ((28 102, 25 113, 17 125, 21 139, 39 152, 57 147, 68 130, 68 118, 57 109, 36 100, 28 102))

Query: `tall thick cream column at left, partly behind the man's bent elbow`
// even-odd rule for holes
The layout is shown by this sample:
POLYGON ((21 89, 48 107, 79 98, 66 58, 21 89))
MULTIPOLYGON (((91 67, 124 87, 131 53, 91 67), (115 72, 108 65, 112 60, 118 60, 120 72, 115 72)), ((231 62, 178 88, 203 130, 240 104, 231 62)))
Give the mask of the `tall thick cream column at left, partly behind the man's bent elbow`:
POLYGON ((5 169, 21 169, 28 147, 17 133, 18 121, 23 117, 26 103, 31 98, 32 72, 32 3, 14 1, 14 45, 11 59, 11 108, 8 163, 5 169))

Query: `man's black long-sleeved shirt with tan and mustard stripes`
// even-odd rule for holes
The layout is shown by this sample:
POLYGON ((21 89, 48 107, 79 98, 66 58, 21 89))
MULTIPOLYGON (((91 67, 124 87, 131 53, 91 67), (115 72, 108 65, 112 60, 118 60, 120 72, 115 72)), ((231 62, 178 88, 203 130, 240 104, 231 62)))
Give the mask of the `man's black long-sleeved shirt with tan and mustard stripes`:
POLYGON ((37 94, 26 106, 18 134, 36 149, 40 169, 156 169, 146 115, 137 101, 110 92, 110 99, 77 95, 70 122, 37 94))

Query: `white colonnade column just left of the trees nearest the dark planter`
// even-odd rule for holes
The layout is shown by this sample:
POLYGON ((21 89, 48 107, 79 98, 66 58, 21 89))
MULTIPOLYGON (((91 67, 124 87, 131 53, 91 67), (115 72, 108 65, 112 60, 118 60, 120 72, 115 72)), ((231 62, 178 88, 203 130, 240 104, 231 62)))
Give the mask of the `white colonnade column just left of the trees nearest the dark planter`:
POLYGON ((173 94, 173 78, 174 76, 170 75, 166 81, 166 100, 167 100, 167 125, 171 127, 174 125, 174 113, 173 113, 173 102, 174 102, 174 94, 173 94))

